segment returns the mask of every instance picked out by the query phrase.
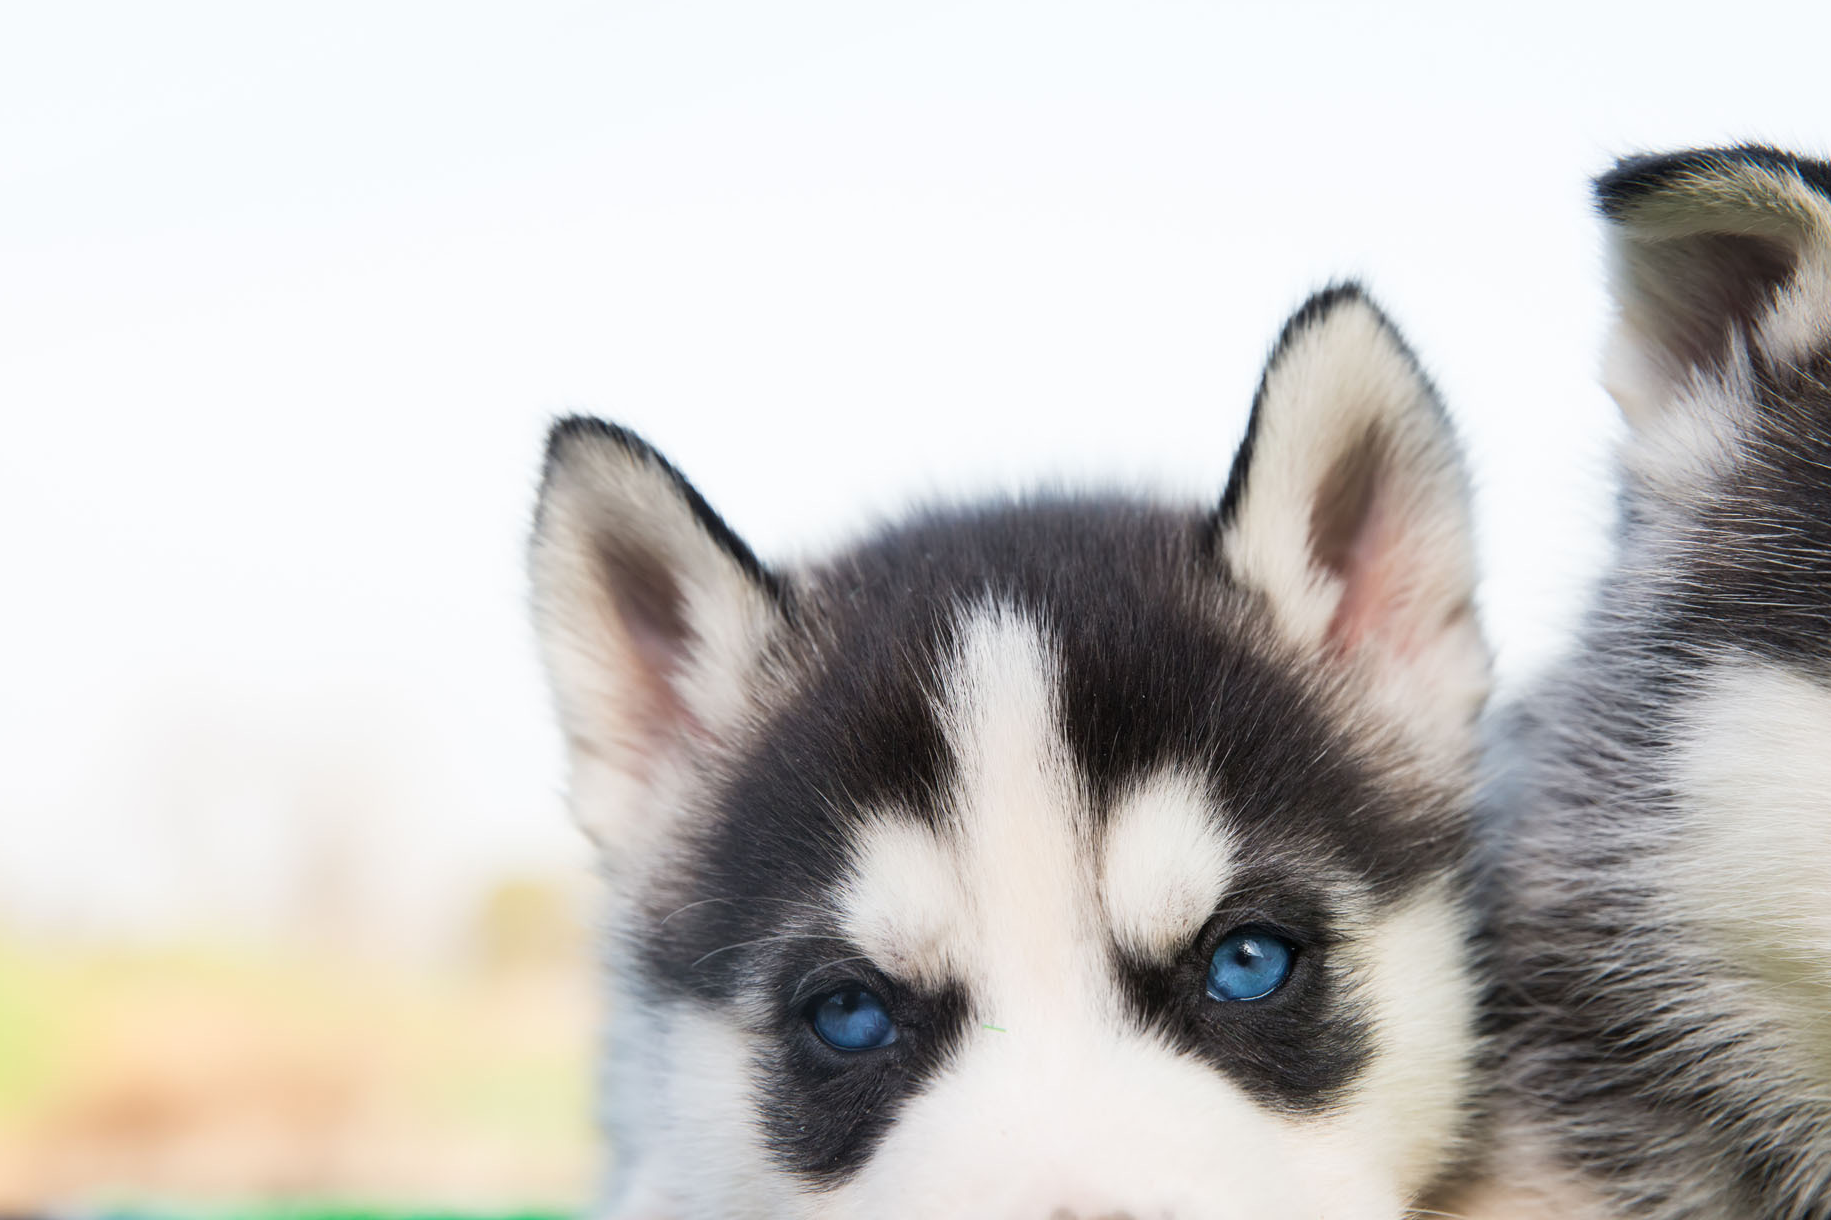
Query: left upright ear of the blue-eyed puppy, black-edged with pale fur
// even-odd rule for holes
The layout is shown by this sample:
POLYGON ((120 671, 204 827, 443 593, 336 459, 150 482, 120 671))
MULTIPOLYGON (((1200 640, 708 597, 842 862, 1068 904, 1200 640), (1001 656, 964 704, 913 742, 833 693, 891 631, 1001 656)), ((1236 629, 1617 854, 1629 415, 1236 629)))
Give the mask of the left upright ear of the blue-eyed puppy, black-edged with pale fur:
POLYGON ((588 418, 547 434, 529 575, 573 812, 639 855, 754 705, 787 592, 659 452, 588 418))

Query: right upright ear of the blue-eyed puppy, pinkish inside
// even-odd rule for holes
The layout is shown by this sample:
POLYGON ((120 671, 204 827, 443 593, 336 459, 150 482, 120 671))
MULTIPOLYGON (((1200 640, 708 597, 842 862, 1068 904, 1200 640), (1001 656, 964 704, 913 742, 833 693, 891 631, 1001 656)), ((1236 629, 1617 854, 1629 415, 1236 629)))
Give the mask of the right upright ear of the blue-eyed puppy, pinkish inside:
POLYGON ((1359 286, 1285 324, 1219 509, 1285 643, 1463 753, 1489 687, 1468 480, 1417 359, 1359 286))

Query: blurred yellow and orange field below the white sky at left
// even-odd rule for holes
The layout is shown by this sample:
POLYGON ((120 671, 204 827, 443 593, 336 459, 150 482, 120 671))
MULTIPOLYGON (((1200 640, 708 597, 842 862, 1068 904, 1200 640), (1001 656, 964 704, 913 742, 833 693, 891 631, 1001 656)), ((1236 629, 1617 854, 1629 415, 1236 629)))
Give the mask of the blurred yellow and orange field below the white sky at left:
POLYGON ((504 885, 467 958, 0 936, 0 1213, 579 1207, 595 1008, 577 920, 504 885))

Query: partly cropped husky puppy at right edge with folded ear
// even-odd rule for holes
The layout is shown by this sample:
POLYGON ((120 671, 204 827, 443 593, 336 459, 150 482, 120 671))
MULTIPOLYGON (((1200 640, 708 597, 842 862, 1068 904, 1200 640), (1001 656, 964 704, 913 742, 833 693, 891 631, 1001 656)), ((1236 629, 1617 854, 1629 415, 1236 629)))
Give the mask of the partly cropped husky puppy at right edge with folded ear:
POLYGON ((1459 1207, 1824 1220, 1831 165, 1642 156, 1597 198, 1620 520, 1501 735, 1500 1183, 1459 1207))

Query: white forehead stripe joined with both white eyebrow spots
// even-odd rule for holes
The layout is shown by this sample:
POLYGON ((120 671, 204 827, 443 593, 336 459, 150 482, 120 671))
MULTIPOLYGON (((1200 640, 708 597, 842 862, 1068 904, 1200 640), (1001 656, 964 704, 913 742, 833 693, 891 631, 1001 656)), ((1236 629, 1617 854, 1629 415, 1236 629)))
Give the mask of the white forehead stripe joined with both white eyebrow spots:
POLYGON ((1002 942, 1104 938, 1161 958, 1194 938, 1230 881, 1230 843, 1205 779, 1163 769, 1095 824, 1056 724, 1056 659, 1020 615, 969 619, 947 724, 961 758, 945 826, 875 819, 840 885, 848 936, 892 973, 937 984, 1002 942))

